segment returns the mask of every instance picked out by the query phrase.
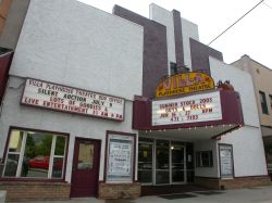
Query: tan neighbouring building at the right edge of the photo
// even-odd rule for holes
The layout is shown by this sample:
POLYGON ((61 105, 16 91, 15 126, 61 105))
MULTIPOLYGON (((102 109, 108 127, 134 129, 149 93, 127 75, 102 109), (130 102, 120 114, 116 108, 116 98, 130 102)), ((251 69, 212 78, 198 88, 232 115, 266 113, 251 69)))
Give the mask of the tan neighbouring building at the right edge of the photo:
POLYGON ((249 73, 252 77, 255 96, 258 105, 259 119, 261 125, 262 139, 265 150, 268 170, 272 175, 272 71, 250 59, 243 55, 233 63, 239 69, 249 73))

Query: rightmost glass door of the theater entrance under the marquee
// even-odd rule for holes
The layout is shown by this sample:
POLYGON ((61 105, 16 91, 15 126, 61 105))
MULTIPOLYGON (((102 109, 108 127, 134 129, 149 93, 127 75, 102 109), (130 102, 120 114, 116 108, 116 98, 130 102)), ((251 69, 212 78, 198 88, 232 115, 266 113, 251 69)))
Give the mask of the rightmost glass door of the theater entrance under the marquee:
POLYGON ((184 145, 172 142, 172 182, 185 182, 185 148, 184 145))

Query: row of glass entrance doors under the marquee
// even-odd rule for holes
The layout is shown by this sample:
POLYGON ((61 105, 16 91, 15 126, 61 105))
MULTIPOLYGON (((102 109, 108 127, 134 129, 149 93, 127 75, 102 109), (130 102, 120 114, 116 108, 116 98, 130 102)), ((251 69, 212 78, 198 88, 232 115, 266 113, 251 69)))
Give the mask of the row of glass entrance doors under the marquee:
POLYGON ((138 180, 147 186, 186 183, 188 157, 185 142, 139 138, 138 180))

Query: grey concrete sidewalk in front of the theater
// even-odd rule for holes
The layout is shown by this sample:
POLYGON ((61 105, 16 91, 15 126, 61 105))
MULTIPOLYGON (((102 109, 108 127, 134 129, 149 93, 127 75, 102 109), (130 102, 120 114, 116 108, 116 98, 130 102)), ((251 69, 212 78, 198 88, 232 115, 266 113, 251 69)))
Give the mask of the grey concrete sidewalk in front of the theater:
MULTIPOLYGON (((188 192, 137 200, 73 199, 70 201, 36 201, 29 203, 272 203, 272 186, 239 190, 188 192)), ((13 202, 14 203, 14 202, 13 202)), ((21 202, 22 203, 22 202, 21 202)))

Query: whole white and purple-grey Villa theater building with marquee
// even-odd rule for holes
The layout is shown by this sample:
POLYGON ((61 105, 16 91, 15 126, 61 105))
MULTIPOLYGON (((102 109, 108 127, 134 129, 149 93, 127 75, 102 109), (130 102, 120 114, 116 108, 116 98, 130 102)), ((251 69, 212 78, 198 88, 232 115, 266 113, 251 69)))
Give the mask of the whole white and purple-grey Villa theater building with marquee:
POLYGON ((251 77, 178 11, 32 0, 0 113, 7 200, 270 183, 251 77), (242 79, 243 78, 243 79, 242 79))

